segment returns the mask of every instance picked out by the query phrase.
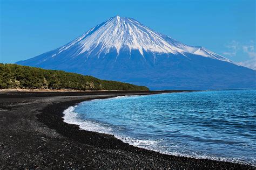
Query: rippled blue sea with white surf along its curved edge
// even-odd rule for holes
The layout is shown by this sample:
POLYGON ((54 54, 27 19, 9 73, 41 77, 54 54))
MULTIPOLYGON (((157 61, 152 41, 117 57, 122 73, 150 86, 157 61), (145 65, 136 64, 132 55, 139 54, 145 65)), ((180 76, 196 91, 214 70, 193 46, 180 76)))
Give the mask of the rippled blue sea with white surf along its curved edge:
POLYGON ((256 165, 256 89, 85 101, 64 121, 161 153, 256 165))

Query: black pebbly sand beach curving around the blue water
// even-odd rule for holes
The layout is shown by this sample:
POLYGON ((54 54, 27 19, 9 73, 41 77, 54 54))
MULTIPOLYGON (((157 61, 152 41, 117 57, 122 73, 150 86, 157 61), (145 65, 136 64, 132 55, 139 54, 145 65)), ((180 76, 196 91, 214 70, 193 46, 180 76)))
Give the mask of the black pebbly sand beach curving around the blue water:
POLYGON ((66 108, 82 101, 157 93, 163 91, 0 92, 0 169, 255 169, 160 154, 109 134, 80 130, 62 119, 66 108))

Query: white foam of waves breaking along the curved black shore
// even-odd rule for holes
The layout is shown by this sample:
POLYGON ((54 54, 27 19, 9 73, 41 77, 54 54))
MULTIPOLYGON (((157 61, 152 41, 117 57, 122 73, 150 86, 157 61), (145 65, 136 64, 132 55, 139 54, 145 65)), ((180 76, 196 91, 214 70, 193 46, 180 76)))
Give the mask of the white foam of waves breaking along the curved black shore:
MULTIPOLYGON (((118 96, 114 98, 123 98, 123 97, 131 97, 131 96, 118 96)), ((110 98, 113 99, 113 98, 110 98)), ((107 100, 107 99, 103 99, 107 100)), ((114 133, 113 129, 104 123, 99 123, 95 121, 89 121, 89 120, 83 120, 79 117, 79 114, 75 112, 75 107, 69 107, 68 109, 64 110, 63 118, 64 122, 69 124, 76 124, 79 125, 80 129, 87 130, 87 131, 93 131, 93 132, 99 132, 99 133, 105 133, 105 134, 111 134, 117 139, 122 140, 124 143, 128 143, 133 146, 145 148, 147 150, 152 150, 156 152, 160 152, 163 154, 169 154, 169 155, 176 155, 179 157, 190 157, 190 158, 196 158, 196 159, 211 159, 211 160, 218 160, 218 161, 228 161, 228 162, 234 162, 239 164, 247 164, 247 165, 254 165, 254 164, 248 164, 245 160, 239 159, 239 158, 223 158, 223 157, 214 157, 210 155, 199 155, 197 153, 192 154, 185 154, 180 153, 178 151, 169 151, 166 150, 165 146, 159 145, 161 143, 161 139, 159 140, 152 140, 152 139, 135 139, 132 137, 126 137, 122 134, 116 134, 114 133)), ((178 146, 172 146, 172 147, 178 147, 178 146)))

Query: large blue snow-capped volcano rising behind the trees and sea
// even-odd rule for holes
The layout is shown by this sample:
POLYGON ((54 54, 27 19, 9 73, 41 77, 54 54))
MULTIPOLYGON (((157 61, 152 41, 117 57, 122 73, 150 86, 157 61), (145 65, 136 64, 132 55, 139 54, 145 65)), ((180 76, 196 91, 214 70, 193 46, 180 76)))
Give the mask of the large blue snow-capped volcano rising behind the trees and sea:
POLYGON ((255 88, 256 71, 115 16, 68 44, 17 64, 92 75, 150 89, 255 88))

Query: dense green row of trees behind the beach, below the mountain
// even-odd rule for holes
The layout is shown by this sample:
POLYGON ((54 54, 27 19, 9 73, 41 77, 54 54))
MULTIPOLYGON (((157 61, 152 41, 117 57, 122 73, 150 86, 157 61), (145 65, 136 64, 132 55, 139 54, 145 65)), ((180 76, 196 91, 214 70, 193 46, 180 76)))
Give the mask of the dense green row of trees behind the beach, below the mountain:
POLYGON ((145 86, 92 76, 0 63, 0 89, 149 90, 145 86))

